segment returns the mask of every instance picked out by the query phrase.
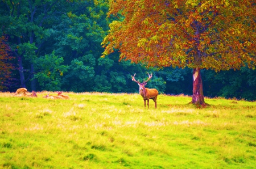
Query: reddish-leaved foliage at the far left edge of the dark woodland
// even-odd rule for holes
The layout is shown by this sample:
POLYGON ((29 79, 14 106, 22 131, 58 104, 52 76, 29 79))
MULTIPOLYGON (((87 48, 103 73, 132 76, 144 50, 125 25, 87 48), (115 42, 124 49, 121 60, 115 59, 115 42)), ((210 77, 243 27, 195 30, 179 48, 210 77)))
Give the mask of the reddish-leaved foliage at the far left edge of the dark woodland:
POLYGON ((11 70, 14 69, 10 55, 10 48, 6 44, 6 37, 0 37, 0 90, 5 90, 11 85, 11 70))

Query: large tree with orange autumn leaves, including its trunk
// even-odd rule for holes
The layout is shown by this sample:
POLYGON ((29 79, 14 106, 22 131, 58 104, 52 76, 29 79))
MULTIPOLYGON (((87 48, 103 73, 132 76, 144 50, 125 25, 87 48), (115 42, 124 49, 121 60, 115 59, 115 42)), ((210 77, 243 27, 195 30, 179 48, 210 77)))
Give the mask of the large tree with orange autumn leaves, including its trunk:
POLYGON ((104 56, 148 66, 193 69, 192 103, 205 104, 201 69, 255 69, 256 3, 211 0, 110 0, 115 16, 104 56))

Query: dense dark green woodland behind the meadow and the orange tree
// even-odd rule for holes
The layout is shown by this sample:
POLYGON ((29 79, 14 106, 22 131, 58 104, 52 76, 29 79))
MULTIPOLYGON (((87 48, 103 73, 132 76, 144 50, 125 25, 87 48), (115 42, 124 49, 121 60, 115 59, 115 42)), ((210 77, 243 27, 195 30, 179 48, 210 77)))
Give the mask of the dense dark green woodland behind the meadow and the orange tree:
MULTIPOLYGON (((117 50, 101 57, 109 24, 122 19, 107 17, 107 0, 1 0, 0 6, 1 91, 26 87, 28 91, 131 93, 138 92, 131 75, 136 73, 143 81, 146 72, 152 72, 146 87, 192 95, 193 70, 188 67, 119 61, 117 50)), ((246 65, 240 70, 203 69, 201 76, 205 96, 256 100, 256 70, 246 65)))

